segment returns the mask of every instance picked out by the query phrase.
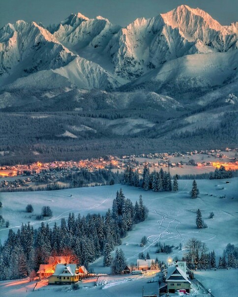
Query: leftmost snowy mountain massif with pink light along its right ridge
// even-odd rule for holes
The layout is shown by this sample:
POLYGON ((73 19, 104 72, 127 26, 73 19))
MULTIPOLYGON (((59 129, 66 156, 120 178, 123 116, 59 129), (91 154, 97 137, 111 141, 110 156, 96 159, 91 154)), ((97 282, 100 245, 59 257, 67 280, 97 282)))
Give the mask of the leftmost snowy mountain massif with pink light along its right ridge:
POLYGON ((41 70, 56 69, 75 56, 36 23, 18 21, 0 30, 0 83, 41 70))

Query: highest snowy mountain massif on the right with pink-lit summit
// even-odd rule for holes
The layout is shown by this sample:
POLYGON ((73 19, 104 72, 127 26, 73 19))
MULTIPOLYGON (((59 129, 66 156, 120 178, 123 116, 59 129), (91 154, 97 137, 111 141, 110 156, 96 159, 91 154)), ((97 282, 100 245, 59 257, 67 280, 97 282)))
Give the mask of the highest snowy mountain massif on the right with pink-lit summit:
POLYGON ((137 19, 110 41, 115 72, 134 79, 185 55, 238 48, 236 25, 221 26, 201 9, 186 5, 149 20, 137 19))

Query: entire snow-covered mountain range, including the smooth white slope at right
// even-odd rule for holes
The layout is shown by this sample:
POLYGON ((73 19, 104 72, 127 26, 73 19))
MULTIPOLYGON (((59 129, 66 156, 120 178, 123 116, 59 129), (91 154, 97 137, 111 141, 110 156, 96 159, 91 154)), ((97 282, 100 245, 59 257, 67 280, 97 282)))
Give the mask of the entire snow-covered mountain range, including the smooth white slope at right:
POLYGON ((17 21, 0 30, 0 86, 223 85, 237 79, 237 49, 238 22, 221 26, 187 5, 126 28, 80 13, 48 28, 17 21))

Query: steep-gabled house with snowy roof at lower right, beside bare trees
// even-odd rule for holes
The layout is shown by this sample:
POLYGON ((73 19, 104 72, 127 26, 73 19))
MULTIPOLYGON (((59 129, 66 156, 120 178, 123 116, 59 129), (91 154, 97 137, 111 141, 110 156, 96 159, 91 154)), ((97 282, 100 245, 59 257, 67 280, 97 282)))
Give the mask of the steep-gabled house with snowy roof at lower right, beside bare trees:
POLYGON ((190 293, 191 282, 186 275, 186 270, 179 267, 179 265, 168 267, 166 283, 168 293, 175 293, 177 290, 185 290, 190 293))

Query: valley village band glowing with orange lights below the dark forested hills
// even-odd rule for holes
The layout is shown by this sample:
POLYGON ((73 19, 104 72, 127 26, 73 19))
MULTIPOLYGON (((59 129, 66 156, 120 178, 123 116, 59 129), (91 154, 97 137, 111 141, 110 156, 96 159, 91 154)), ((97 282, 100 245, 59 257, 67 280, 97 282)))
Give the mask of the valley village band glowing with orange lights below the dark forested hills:
MULTIPOLYGON (((89 172, 98 170, 111 170, 123 172, 127 166, 139 174, 143 173, 143 167, 147 164, 150 171, 159 171, 166 168, 171 175, 189 175, 213 172, 221 165, 227 170, 238 169, 238 148, 181 152, 150 153, 141 155, 106 156, 87 160, 54 161, 50 163, 36 162, 29 165, 17 164, 14 166, 0 166, 0 191, 34 190, 44 188, 47 184, 58 183, 60 188, 71 187, 68 177, 85 169, 89 172)), ((103 183, 98 183, 101 185, 103 183)), ((82 186, 94 186, 95 182, 82 184, 82 186)))

